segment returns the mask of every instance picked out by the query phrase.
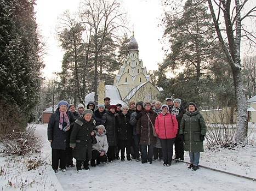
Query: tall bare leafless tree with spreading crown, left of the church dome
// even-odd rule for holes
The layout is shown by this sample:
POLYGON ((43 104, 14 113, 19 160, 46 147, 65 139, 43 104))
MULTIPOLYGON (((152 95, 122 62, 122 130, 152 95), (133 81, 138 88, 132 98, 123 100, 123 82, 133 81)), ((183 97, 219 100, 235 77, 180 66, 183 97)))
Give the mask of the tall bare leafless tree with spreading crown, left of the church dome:
POLYGON ((116 0, 84 0, 81 5, 82 20, 92 30, 94 38, 94 99, 97 104, 98 57, 106 38, 118 38, 118 30, 125 28, 126 13, 121 10, 122 4, 116 0))

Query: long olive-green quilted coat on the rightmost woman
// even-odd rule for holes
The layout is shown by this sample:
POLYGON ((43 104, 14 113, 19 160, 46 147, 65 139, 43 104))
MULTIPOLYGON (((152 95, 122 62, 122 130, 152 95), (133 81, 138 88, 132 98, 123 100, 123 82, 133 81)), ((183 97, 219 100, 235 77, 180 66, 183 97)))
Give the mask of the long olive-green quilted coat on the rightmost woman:
POLYGON ((184 151, 203 152, 203 141, 200 135, 206 135, 206 123, 203 116, 196 108, 194 112, 186 109, 186 115, 183 116, 180 123, 179 134, 184 134, 184 151), (197 114, 200 115, 199 121, 197 114))

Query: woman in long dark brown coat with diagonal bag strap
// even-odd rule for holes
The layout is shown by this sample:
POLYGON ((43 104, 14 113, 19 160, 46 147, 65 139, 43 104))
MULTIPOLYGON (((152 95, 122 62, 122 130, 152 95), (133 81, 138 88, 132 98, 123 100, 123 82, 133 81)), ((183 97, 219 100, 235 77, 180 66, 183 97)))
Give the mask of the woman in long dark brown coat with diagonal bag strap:
POLYGON ((141 163, 152 164, 153 146, 156 144, 156 137, 153 135, 153 124, 157 113, 151 108, 150 102, 143 104, 145 110, 141 111, 141 117, 136 123, 136 133, 140 134, 141 163))

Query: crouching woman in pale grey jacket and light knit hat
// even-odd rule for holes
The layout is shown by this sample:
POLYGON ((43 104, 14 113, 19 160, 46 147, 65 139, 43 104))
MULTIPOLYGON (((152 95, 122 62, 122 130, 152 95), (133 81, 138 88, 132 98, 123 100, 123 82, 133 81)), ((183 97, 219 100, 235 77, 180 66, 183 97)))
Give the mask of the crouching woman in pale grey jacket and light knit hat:
POLYGON ((92 159, 90 160, 91 166, 96 166, 95 160, 97 162, 97 165, 100 164, 100 162, 107 162, 106 153, 109 149, 105 127, 102 124, 100 124, 96 128, 98 129, 98 133, 96 134, 97 143, 93 144, 92 159))

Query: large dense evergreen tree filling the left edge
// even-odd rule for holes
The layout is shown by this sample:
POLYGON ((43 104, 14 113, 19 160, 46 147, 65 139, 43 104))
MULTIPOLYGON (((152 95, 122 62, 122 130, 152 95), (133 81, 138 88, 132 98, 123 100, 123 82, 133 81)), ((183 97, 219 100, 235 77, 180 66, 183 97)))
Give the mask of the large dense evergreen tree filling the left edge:
POLYGON ((38 102, 42 80, 34 5, 27 0, 0 2, 0 99, 19 106, 24 121, 38 102))

